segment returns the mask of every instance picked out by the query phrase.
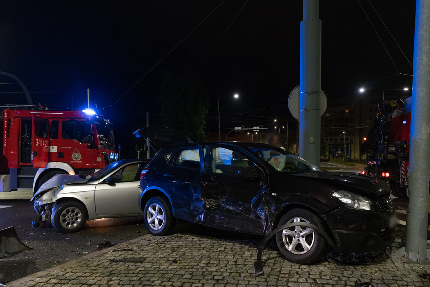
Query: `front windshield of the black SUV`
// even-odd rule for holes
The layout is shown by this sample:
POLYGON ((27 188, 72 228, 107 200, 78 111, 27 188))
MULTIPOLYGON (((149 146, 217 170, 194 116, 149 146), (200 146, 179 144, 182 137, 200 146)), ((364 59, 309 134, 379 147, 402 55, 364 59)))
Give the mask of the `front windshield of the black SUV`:
POLYGON ((315 165, 293 155, 292 153, 268 146, 249 146, 261 159, 280 172, 320 172, 315 165))

